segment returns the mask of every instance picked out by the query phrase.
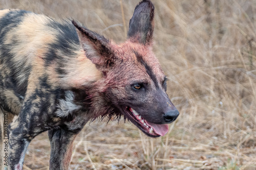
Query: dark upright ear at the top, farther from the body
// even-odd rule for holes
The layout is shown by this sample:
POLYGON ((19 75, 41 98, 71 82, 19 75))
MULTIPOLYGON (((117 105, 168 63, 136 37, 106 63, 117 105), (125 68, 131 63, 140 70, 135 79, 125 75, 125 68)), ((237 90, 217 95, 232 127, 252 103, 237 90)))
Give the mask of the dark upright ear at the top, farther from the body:
POLYGON ((127 37, 133 42, 150 44, 154 31, 154 5, 149 0, 141 1, 135 8, 129 23, 127 37))

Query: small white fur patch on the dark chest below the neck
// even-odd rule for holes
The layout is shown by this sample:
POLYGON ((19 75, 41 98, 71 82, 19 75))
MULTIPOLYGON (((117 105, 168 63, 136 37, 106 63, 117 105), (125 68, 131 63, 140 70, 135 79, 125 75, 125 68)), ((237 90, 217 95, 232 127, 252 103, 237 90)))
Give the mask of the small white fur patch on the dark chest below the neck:
POLYGON ((78 106, 74 104, 74 94, 72 91, 67 91, 65 93, 65 99, 59 100, 58 109, 55 112, 55 114, 58 117, 66 117, 69 114, 72 114, 73 111, 81 108, 81 106, 78 106))

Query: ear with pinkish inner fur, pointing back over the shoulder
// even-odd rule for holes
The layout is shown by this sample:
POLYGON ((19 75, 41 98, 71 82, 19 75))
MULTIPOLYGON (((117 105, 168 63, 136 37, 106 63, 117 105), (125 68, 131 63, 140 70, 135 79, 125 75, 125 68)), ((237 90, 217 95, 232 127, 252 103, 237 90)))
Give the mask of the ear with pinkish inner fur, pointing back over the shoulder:
POLYGON ((73 25, 77 28, 77 34, 80 44, 86 52, 86 57, 96 65, 99 70, 108 70, 114 64, 114 53, 111 50, 111 42, 102 35, 99 35, 79 23, 72 20, 73 25))

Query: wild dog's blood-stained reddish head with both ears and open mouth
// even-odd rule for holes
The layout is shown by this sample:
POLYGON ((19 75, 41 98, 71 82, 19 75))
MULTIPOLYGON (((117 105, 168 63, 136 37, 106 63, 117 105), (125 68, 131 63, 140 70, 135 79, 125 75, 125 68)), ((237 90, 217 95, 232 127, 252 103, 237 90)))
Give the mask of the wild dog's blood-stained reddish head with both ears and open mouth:
POLYGON ((124 115, 151 137, 163 136, 178 110, 166 93, 166 76, 152 51, 154 5, 140 2, 122 44, 73 21, 87 58, 102 71, 89 91, 95 116, 124 115))

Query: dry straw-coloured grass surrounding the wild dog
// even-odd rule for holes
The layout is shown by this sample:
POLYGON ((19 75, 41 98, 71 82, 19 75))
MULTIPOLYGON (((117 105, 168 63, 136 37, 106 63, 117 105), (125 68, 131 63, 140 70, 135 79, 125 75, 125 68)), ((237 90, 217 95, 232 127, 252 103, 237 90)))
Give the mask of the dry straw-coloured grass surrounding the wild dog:
MULTIPOLYGON (((70 169, 256 169, 256 1, 153 2, 155 53, 181 114, 158 139, 129 123, 88 124, 70 169)), ((138 1, 120 3, 0 0, 0 8, 72 17, 120 42, 138 1)), ((31 142, 24 169, 49 169, 49 155, 45 133, 31 142)))

